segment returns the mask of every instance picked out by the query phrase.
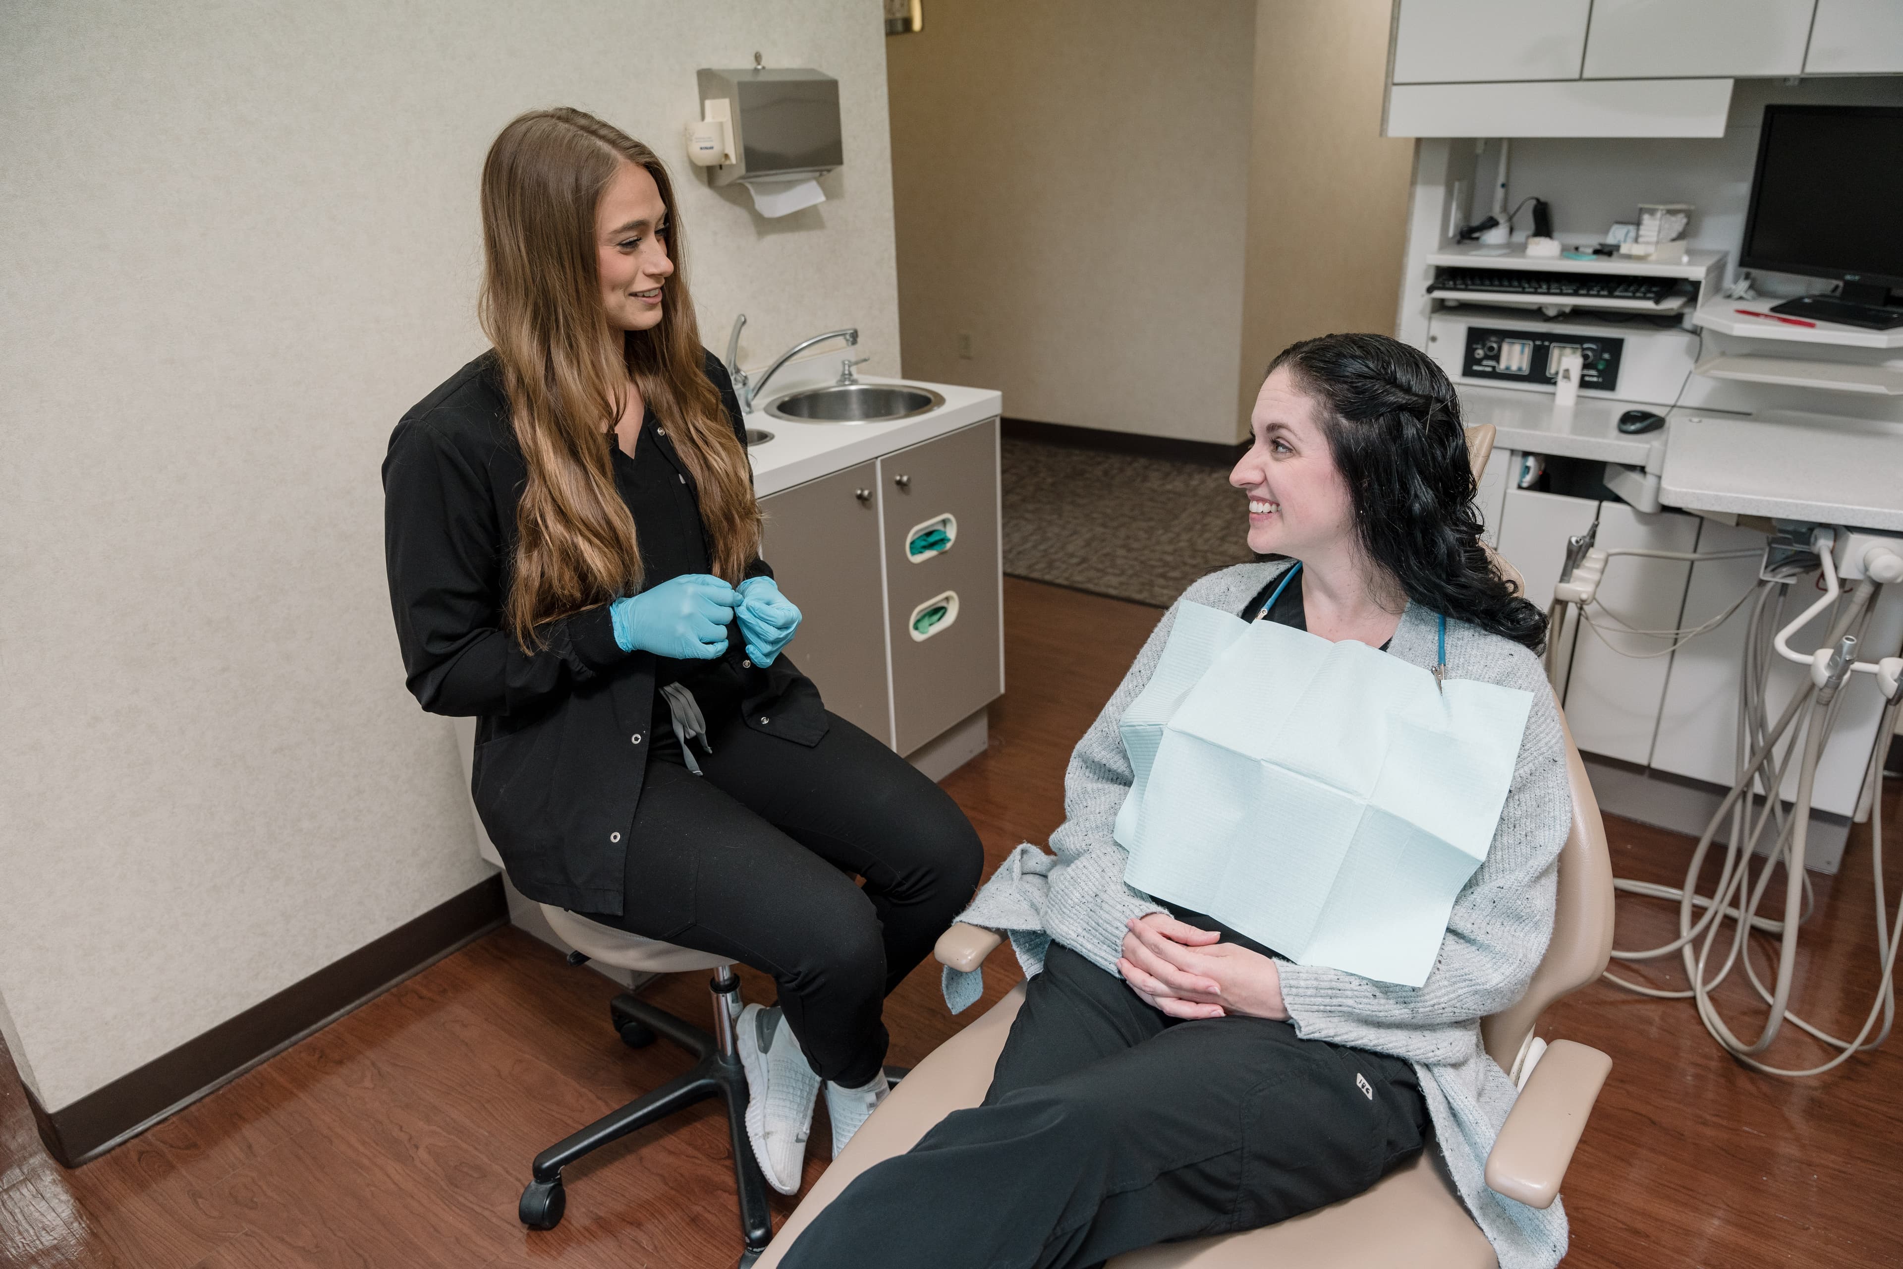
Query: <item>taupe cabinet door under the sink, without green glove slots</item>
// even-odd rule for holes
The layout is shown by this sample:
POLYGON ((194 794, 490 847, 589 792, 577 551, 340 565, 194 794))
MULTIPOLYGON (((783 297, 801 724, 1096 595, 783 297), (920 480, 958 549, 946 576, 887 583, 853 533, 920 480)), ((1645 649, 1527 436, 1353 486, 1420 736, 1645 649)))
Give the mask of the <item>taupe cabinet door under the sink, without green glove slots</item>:
POLYGON ((759 506, 767 516, 763 554, 801 613, 786 654, 818 685, 828 710, 893 744, 877 481, 877 464, 862 462, 769 495, 759 506))

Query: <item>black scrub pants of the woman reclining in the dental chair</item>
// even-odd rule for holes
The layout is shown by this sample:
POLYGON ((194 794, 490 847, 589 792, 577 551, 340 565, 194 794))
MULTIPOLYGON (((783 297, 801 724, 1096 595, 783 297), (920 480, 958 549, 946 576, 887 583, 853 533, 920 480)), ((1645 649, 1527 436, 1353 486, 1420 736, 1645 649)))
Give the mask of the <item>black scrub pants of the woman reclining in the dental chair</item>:
POLYGON ((1265 1018, 1176 1020, 1052 944, 984 1105, 841 1193, 786 1269, 1058 1269, 1271 1225, 1412 1159, 1399 1058, 1265 1018))

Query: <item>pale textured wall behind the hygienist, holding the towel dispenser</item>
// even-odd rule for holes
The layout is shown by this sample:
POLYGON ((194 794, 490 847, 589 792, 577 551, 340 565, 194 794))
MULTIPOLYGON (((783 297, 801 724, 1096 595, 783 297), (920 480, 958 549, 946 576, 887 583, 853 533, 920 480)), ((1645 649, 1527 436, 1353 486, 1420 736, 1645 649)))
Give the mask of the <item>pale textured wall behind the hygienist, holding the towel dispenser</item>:
POLYGON ((879 0, 59 4, 0 17, 0 993, 49 1109, 480 881, 383 576, 398 415, 481 350, 476 179, 571 103, 674 166, 708 342, 898 371, 879 0), (761 221, 696 67, 841 80, 761 221))

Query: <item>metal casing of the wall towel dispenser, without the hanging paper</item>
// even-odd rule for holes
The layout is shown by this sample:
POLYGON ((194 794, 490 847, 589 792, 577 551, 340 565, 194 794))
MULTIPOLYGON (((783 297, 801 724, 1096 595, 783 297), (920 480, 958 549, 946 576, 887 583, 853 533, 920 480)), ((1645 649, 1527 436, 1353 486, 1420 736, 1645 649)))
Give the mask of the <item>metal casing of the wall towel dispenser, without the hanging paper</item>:
POLYGON ((708 167, 708 181, 811 181, 845 162, 839 145, 839 80, 818 70, 706 70, 706 118, 725 105, 731 164, 708 167))

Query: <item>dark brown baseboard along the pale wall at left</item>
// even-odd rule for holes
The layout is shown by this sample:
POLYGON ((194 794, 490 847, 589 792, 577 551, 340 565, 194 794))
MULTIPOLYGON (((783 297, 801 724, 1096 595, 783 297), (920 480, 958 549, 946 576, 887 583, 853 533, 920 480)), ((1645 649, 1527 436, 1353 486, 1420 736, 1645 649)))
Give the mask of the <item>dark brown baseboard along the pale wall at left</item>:
POLYGON ((506 921, 497 873, 72 1105, 48 1111, 29 1088, 40 1140, 69 1168, 97 1159, 506 921))

